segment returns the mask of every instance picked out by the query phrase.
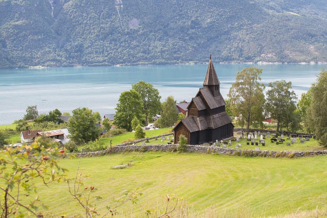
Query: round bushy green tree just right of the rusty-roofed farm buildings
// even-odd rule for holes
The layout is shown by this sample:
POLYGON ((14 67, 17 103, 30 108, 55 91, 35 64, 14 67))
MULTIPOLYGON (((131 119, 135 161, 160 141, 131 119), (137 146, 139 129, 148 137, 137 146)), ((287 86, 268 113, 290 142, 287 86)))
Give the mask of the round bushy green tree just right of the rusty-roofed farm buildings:
POLYGON ((82 144, 99 137, 100 129, 95 126, 97 120, 91 109, 85 107, 76 108, 72 113, 73 115, 68 120, 71 139, 78 144, 82 144))

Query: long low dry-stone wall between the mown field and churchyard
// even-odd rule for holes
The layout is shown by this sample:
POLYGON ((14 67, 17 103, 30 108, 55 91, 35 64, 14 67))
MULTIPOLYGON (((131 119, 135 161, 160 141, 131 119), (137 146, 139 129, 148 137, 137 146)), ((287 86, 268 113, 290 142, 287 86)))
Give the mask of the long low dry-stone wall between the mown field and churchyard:
MULTIPOLYGON (((174 151, 178 144, 170 145, 119 145, 112 147, 112 152, 124 152, 124 151, 174 151)), ((327 150, 317 151, 266 151, 266 150, 250 150, 250 149, 235 149, 235 148, 223 148, 214 146, 203 146, 203 145, 187 145, 186 151, 188 152, 215 152, 219 154, 229 154, 238 156, 271 156, 271 157, 303 157, 310 155, 327 154, 327 150)), ((110 149, 97 152, 85 152, 76 153, 77 156, 96 156, 102 154, 109 154, 110 149)))

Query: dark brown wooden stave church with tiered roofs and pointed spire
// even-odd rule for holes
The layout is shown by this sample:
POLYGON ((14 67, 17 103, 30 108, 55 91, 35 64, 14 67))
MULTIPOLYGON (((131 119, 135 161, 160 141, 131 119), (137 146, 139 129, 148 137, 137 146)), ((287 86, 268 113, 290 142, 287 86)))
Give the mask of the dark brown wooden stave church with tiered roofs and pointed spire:
POLYGON ((180 135, 187 137, 189 145, 215 142, 233 136, 234 126, 225 112, 226 102, 220 94, 219 85, 210 55, 203 87, 187 106, 187 117, 182 118, 173 129, 175 144, 180 135))

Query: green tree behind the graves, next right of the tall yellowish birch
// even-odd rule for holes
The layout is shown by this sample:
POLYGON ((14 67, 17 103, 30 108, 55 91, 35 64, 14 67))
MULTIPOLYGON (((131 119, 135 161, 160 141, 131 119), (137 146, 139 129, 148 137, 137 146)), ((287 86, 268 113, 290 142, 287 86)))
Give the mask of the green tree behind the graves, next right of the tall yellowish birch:
MULTIPOLYGON (((296 94, 292 89, 292 82, 284 80, 269 82, 270 89, 266 92, 267 102, 266 111, 277 121, 277 131, 279 131, 280 124, 284 127, 295 121, 296 114, 296 94)), ((300 119, 296 119, 300 121, 300 119)), ((294 126, 296 123, 293 123, 294 126)))

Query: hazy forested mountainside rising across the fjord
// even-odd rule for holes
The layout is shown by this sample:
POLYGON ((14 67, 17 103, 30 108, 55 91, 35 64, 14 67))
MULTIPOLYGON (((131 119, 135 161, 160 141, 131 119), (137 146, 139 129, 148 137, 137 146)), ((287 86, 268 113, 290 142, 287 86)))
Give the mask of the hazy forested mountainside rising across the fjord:
POLYGON ((327 62, 324 0, 0 0, 0 67, 327 62))

